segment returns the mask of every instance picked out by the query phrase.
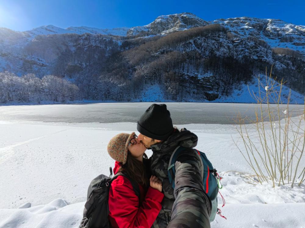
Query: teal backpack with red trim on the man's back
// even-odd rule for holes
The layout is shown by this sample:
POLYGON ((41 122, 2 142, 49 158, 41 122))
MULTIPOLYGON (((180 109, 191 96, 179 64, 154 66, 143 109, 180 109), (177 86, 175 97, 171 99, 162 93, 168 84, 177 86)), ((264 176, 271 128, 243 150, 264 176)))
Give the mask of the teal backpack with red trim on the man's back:
MULTIPOLYGON (((209 196, 211 202, 212 202, 212 209, 211 209, 211 215, 210 215, 210 222, 212 222, 215 219, 216 214, 219 214, 221 217, 225 218, 221 215, 221 210, 218 209, 218 203, 217 203, 217 195, 218 195, 218 189, 222 188, 222 185, 220 184, 221 178, 217 174, 217 170, 213 168, 212 163, 207 159, 206 154, 198 151, 193 148, 185 148, 178 146, 173 154, 170 157, 170 162, 168 164, 168 178, 170 183, 172 184, 173 188, 175 188, 175 162, 180 154, 181 151, 185 150, 195 150, 196 153, 198 153, 201 157, 201 160, 203 162, 203 186, 206 190, 206 194, 209 196)), ((223 198, 222 198, 223 199, 223 198)), ((223 204, 224 206, 224 204, 223 204)), ((226 219, 226 218, 225 218, 226 219)))

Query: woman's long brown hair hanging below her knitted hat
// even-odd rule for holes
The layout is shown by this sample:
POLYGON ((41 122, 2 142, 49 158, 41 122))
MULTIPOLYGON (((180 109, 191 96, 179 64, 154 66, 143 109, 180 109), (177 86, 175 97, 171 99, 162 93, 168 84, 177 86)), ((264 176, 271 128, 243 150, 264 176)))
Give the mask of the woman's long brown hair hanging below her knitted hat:
MULTIPOLYGON (((144 153, 143 159, 147 158, 147 155, 144 153)), ((121 167, 119 168, 119 172, 127 174, 131 179, 137 181, 138 184, 142 185, 144 188, 149 187, 149 180, 146 176, 146 171, 143 162, 133 157, 129 151, 127 154, 127 162, 126 164, 121 165, 121 167)))

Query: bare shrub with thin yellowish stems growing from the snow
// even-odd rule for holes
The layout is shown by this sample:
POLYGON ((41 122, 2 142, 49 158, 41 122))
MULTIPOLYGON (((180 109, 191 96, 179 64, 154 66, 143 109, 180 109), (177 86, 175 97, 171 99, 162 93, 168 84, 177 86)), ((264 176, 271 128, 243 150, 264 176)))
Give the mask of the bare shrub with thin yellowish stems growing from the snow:
POLYGON ((271 181, 273 187, 281 183, 293 187, 297 178, 300 186, 305 175, 305 107, 302 115, 292 118, 290 93, 285 110, 282 108, 283 80, 277 83, 271 78, 271 73, 269 77, 266 73, 264 82, 260 81, 260 77, 258 79, 258 94, 249 91, 259 107, 255 113, 256 120, 246 125, 246 118, 239 114, 236 130, 241 142, 233 141, 254 172, 253 176, 250 175, 254 180, 259 183, 271 181), (271 107, 271 103, 275 103, 276 107, 271 107))

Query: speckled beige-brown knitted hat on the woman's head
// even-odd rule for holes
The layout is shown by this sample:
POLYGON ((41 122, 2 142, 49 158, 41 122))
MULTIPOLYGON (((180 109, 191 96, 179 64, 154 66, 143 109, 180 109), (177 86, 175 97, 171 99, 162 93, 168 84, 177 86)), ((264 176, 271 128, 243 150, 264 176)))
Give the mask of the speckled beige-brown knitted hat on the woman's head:
POLYGON ((127 161, 128 144, 135 133, 120 133, 114 136, 108 143, 107 151, 110 157, 123 165, 127 161))

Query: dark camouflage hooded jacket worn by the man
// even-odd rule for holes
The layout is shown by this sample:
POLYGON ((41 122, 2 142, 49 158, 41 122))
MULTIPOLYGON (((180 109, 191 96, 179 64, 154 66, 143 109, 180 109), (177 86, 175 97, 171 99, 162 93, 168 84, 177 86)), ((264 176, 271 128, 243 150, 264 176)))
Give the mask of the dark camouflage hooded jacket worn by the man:
POLYGON ((198 137, 185 128, 162 143, 151 146, 151 171, 162 181, 164 198, 162 209, 153 223, 154 228, 204 227, 210 228, 210 199, 203 187, 203 163, 198 154, 182 151, 175 163, 175 189, 169 182, 167 168, 177 146, 193 148, 198 137))

